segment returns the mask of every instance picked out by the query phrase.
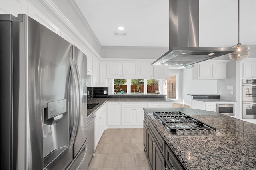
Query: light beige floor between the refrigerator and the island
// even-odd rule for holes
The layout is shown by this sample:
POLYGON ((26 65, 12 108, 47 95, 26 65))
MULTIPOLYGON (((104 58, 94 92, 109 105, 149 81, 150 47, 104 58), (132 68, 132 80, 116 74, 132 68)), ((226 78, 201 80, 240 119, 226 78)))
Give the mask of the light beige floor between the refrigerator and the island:
POLYGON ((150 170, 143 129, 106 129, 88 170, 150 170))

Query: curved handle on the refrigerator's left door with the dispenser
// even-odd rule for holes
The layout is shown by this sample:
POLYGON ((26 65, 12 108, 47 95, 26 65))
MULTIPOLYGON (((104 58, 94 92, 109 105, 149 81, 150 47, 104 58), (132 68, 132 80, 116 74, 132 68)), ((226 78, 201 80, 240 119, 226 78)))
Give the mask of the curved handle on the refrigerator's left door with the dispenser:
POLYGON ((78 128, 78 120, 79 120, 79 115, 78 114, 80 114, 80 111, 79 111, 80 106, 77 103, 80 100, 80 97, 79 97, 80 94, 79 94, 79 88, 78 88, 78 77, 76 76, 76 68, 74 66, 74 62, 73 62, 72 57, 70 57, 70 67, 71 67, 71 72, 72 72, 73 80, 74 80, 74 89, 75 89, 74 105, 76 107, 76 116, 75 116, 75 119, 74 119, 75 121, 74 121, 71 140, 70 140, 70 148, 71 148, 74 144, 74 140, 75 140, 75 136, 76 136, 76 130, 78 128))

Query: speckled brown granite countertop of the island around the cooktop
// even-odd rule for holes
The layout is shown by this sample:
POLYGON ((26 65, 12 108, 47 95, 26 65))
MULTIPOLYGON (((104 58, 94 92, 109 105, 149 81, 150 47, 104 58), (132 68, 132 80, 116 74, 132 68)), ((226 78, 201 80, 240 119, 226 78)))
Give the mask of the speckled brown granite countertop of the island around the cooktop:
POLYGON ((144 108, 154 126, 187 170, 255 170, 256 125, 212 111, 144 108), (226 137, 173 137, 153 111, 181 111, 217 128, 226 137))

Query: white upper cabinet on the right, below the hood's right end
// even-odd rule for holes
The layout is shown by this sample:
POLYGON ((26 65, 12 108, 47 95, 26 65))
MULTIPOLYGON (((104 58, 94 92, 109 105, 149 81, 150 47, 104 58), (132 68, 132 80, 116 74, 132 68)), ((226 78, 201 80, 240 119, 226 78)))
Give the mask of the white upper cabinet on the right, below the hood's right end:
POLYGON ((208 60, 193 68, 193 79, 226 79, 229 60, 208 60))

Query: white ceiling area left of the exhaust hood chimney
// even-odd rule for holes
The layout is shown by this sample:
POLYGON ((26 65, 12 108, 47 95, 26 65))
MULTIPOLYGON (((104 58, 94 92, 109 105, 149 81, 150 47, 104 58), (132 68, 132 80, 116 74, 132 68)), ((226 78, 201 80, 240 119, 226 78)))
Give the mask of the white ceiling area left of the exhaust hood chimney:
POLYGON ((169 0, 75 2, 102 46, 169 46, 169 0), (124 30, 118 30, 118 26, 123 26, 124 30), (115 32, 126 36, 116 36, 115 32))

